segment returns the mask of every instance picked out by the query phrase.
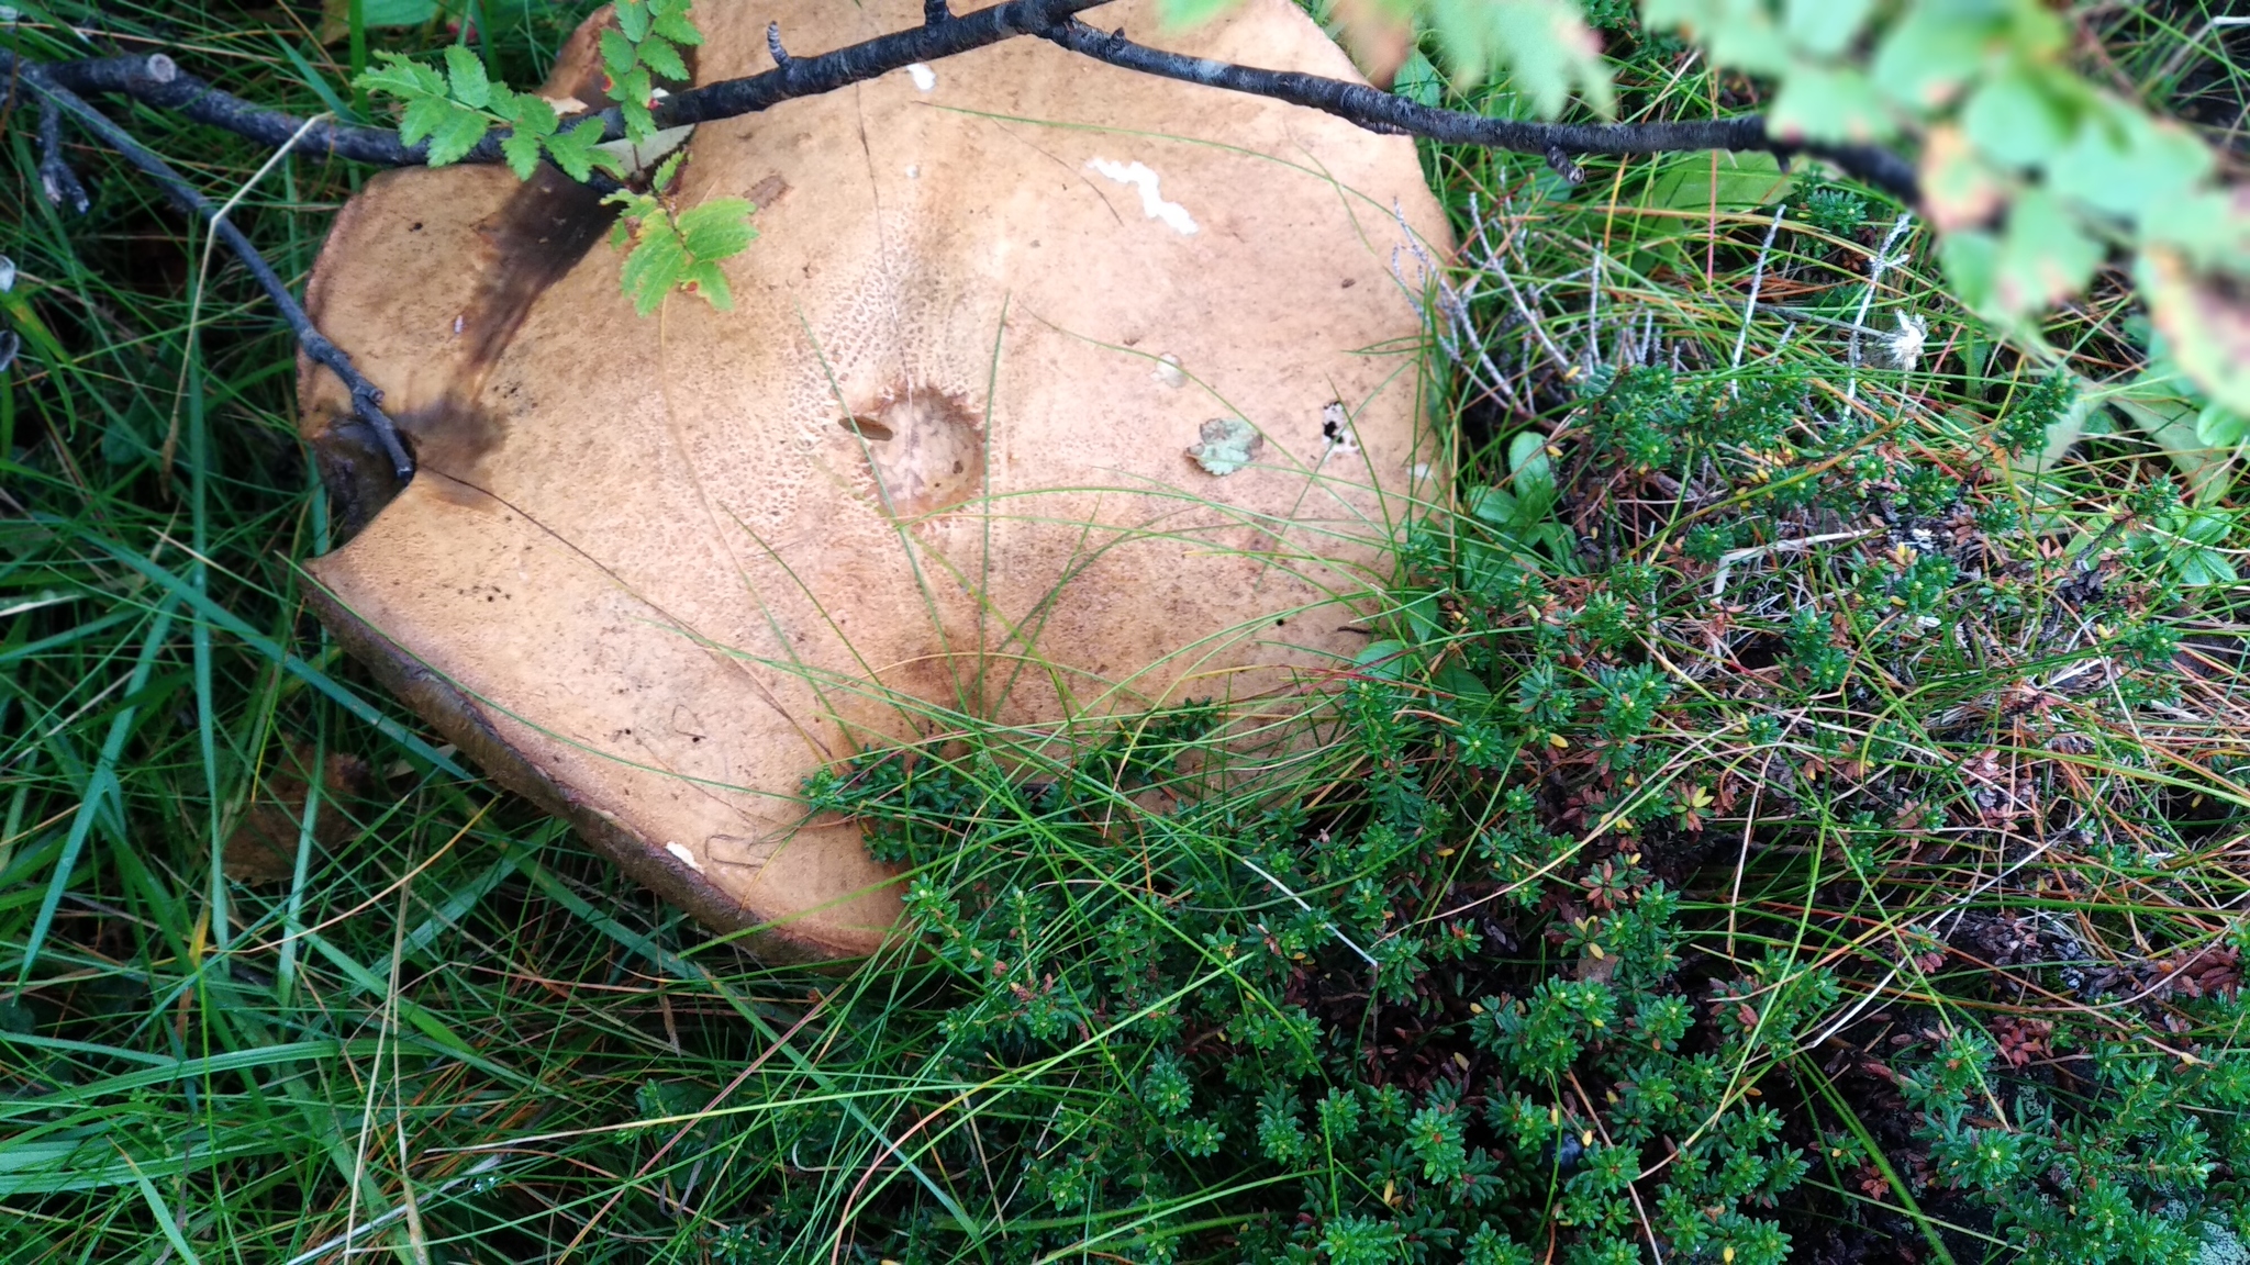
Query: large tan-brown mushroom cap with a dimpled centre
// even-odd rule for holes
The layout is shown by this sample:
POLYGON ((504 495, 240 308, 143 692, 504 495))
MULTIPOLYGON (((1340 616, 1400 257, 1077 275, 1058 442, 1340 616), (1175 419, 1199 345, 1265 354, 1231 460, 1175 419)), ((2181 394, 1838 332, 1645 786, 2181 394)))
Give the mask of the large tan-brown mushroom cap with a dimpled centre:
MULTIPOLYGON (((824 50, 922 9, 704 5, 698 81, 770 68, 770 18, 824 50)), ((1352 74, 1289 0, 1172 43, 1352 74)), ((544 92, 598 97, 592 25, 544 92)), ((502 783, 767 954, 855 954, 898 896, 810 772, 950 716, 1287 700, 1366 646, 1436 464, 1408 140, 1019 38, 686 153, 682 207, 760 207, 731 313, 634 317, 551 171, 380 176, 313 277, 421 459, 394 488, 304 369, 356 531, 322 617, 502 783)))

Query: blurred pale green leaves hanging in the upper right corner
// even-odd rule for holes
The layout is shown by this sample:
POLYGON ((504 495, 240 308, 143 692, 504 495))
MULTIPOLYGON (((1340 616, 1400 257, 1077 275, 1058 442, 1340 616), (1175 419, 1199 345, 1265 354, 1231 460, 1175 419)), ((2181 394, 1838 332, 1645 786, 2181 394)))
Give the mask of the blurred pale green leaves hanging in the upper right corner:
POLYGON ((2110 250, 2171 358, 2250 412, 2250 198, 2192 131, 2072 68, 2041 0, 1645 0, 1712 61, 1771 79, 1778 135, 1922 142, 1924 212, 1964 306, 2038 347, 2038 315, 2086 293, 2110 250))

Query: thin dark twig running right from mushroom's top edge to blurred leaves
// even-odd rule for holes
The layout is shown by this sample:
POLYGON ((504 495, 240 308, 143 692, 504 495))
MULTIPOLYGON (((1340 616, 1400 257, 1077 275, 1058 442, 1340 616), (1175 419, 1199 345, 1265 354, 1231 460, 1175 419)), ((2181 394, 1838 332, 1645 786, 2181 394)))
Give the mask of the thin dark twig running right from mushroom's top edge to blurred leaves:
MULTIPOLYGON (((1181 56, 1136 45, 1123 34, 1096 32, 1078 20, 1042 34, 1071 52, 1107 61, 1109 65, 1310 106, 1372 131, 1395 128, 1454 144, 1532 153, 1550 162, 1555 151, 1562 151, 1566 162, 1573 153, 1678 153, 1694 149, 1764 149, 1778 155, 1811 153, 1888 194, 1908 200, 1919 194, 1912 164, 1886 149, 1789 142, 1771 135, 1766 119, 1760 115, 1676 124, 1528 124, 1519 119, 1490 119, 1462 110, 1438 110, 1346 79, 1181 56)), ((1557 171, 1568 176, 1562 167, 1557 171)))

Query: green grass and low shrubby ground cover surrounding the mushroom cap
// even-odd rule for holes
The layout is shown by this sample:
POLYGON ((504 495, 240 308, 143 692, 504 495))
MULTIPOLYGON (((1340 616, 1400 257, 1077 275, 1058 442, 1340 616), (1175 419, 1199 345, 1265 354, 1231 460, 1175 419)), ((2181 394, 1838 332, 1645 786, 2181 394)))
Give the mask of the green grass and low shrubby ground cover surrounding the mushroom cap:
MULTIPOLYGON (((578 16, 484 2, 518 81, 578 16)), ((104 14, 349 108, 272 14, 104 14)), ((2131 74, 2212 92, 2164 43, 2205 16, 2131 74)), ((1629 113, 1748 104, 1613 52, 1629 113)), ((212 189, 263 160, 133 126, 212 189)), ((1456 497, 1406 515, 1325 741, 1215 790, 1258 716, 945 718, 808 786, 911 867, 916 941, 803 972, 623 885, 324 642, 270 313, 99 153, 92 218, 56 218, 7 135, 0 1258, 2250 1240, 2250 533, 2131 419, 2048 459, 2108 414, 1951 308, 1879 198, 1431 153, 1485 225, 1402 261, 1440 295, 1456 497)), ((284 164, 241 223, 302 277, 349 185, 284 164)), ((2054 326, 2079 376, 2138 356, 2120 308, 2054 326)))

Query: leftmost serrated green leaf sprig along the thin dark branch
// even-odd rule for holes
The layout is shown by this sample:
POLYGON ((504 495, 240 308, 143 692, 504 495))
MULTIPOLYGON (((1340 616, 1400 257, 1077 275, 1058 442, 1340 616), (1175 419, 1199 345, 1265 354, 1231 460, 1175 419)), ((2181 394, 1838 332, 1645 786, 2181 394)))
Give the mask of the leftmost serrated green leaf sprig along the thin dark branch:
POLYGON ((430 167, 459 162, 477 149, 484 133, 504 126, 511 133, 502 137, 500 153, 518 180, 531 180, 540 158, 572 180, 590 178, 596 167, 616 178, 626 176, 616 155, 596 149, 601 119, 583 119, 565 131, 544 97, 493 83, 477 54, 461 45, 446 50, 443 72, 396 52, 376 56, 382 65, 364 70, 353 86, 405 101, 398 140, 405 144, 428 140, 430 167))

